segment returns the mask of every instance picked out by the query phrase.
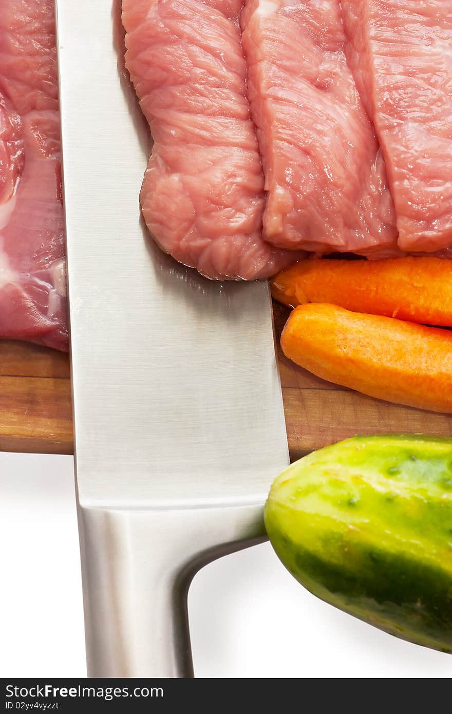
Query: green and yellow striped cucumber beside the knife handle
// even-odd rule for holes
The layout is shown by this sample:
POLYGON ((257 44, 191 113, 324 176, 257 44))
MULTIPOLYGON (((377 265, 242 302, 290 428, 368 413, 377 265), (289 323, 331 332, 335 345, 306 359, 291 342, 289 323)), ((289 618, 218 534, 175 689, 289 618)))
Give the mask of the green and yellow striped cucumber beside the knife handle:
POLYGON ((283 565, 322 600, 452 652, 452 439, 356 436, 283 471, 265 507, 283 565))

